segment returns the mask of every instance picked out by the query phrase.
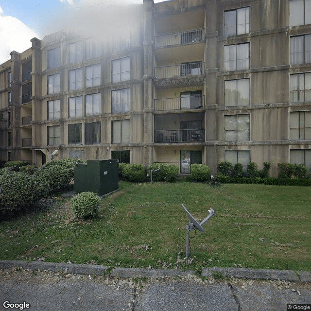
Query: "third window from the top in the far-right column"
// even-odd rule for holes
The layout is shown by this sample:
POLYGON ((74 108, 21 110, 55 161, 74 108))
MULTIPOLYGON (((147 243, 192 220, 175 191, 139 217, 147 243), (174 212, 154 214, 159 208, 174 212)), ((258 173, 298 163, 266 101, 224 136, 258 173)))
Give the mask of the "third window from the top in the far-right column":
POLYGON ((290 75, 290 102, 311 102, 311 72, 290 75))

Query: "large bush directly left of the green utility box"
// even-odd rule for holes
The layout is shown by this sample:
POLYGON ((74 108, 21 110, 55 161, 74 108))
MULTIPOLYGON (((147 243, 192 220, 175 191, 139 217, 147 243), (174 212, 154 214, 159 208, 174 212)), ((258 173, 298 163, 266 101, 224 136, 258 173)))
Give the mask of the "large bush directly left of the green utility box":
POLYGON ((46 178, 51 193, 64 192, 72 189, 70 181, 73 179, 76 164, 82 162, 80 159, 54 160, 42 165, 38 173, 46 178))

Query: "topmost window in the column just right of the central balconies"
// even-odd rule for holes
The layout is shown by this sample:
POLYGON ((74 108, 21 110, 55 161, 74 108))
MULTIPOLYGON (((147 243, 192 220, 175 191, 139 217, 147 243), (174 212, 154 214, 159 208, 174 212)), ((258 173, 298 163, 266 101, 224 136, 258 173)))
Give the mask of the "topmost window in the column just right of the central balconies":
POLYGON ((249 7, 225 11, 225 36, 249 33, 249 7))

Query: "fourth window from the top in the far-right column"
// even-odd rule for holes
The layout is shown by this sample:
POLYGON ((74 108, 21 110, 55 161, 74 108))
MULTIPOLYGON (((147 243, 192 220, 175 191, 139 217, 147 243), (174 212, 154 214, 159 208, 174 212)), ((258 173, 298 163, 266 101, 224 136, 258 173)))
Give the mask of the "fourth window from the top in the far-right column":
POLYGON ((290 139, 311 140, 311 111, 290 113, 290 139))

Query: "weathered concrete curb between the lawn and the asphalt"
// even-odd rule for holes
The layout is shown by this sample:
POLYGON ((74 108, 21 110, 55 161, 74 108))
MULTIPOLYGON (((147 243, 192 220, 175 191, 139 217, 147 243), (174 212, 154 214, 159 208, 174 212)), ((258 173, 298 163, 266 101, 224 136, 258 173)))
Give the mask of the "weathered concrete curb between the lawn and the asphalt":
MULTIPOLYGON (((103 276, 109 269, 107 266, 94 264, 76 264, 62 262, 44 261, 21 261, 21 260, 0 260, 0 269, 10 269, 21 267, 32 270, 49 270, 52 272, 64 272, 71 274, 84 274, 103 276)), ((248 279, 270 279, 291 282, 311 282, 311 272, 299 271, 299 278, 292 270, 266 270, 266 269, 246 269, 246 268, 203 268, 202 276, 213 276, 215 272, 222 273, 225 277, 237 277, 248 279)), ((171 269, 143 269, 143 268, 114 268, 109 273, 110 276, 127 277, 176 277, 193 276, 194 270, 171 270, 171 269)))

